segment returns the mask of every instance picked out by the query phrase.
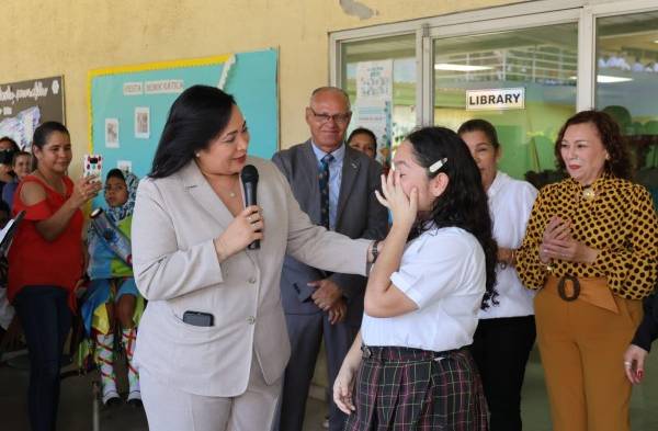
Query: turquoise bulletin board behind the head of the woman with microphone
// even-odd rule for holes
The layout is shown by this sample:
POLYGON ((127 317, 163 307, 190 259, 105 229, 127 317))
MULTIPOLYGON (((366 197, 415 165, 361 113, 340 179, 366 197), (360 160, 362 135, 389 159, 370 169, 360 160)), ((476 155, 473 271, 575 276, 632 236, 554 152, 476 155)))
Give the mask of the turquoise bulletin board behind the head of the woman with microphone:
POLYGON ((173 101, 206 84, 236 98, 249 125, 249 154, 269 159, 279 148, 276 70, 276 49, 91 70, 89 152, 103 156, 103 177, 121 168, 144 178, 173 101))

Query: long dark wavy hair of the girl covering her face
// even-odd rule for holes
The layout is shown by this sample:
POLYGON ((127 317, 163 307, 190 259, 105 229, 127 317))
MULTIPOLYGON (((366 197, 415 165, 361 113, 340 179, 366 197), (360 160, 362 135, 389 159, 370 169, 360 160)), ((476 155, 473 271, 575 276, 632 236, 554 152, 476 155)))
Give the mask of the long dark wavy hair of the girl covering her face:
POLYGON ((487 282, 481 308, 488 308, 489 303, 498 304, 498 293, 494 288, 498 246, 491 234, 487 193, 468 147, 457 134, 445 127, 423 127, 412 132, 407 140, 411 144, 416 161, 427 169, 429 178, 443 172, 450 180, 443 194, 434 201, 430 214, 416 224, 410 239, 432 225, 439 228, 458 227, 475 236, 485 252, 486 261, 487 282), (430 166, 444 158, 446 161, 443 167, 430 172, 430 166))

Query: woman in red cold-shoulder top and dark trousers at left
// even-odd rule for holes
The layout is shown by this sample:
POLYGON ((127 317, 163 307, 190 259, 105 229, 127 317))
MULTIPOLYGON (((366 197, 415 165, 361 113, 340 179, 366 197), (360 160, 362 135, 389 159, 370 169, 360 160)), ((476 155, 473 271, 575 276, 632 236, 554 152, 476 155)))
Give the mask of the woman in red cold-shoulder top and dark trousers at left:
POLYGON ((14 194, 25 211, 9 252, 8 297, 15 306, 30 351, 29 411, 32 430, 52 431, 57 419, 61 351, 71 326, 73 288, 83 273, 80 206, 101 183, 66 175, 71 162, 67 128, 47 122, 34 131, 36 170, 14 194))

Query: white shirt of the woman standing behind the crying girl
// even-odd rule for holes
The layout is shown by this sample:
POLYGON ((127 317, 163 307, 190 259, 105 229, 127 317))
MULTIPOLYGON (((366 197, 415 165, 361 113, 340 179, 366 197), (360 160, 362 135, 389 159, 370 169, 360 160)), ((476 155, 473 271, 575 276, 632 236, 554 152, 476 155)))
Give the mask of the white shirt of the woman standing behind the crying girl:
MULTIPOLYGON (((499 171, 487 194, 498 247, 518 249, 523 241, 537 190, 529 182, 514 180, 499 171)), ((498 305, 480 310, 480 319, 534 315, 535 293, 523 286, 512 266, 503 269, 500 263, 496 265, 496 291, 498 305)))

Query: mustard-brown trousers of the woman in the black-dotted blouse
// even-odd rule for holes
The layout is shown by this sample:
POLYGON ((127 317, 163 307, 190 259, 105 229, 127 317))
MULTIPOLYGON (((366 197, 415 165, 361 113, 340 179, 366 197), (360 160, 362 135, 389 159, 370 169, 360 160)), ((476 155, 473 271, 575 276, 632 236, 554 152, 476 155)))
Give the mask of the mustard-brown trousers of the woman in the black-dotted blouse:
MULTIPOLYGON (((553 430, 629 431, 631 383, 623 355, 642 320, 642 302, 612 296, 604 282, 580 281, 588 288, 575 300, 560 297, 553 276, 535 297, 553 430), (598 304, 614 302, 617 313, 592 305, 592 296, 598 304)), ((566 296, 572 294, 567 288, 566 296)))

